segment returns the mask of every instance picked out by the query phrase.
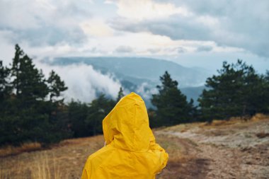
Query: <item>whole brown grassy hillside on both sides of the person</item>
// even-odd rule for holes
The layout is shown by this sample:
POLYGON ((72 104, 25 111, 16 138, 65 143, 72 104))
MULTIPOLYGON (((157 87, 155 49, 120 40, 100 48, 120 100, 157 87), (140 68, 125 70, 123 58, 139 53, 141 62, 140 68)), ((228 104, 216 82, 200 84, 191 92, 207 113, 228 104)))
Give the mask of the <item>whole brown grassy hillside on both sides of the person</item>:
MULTIPOLYGON (((168 165, 156 178, 269 175, 269 117, 256 115, 247 122, 234 118, 213 121, 211 125, 202 122, 176 125, 154 129, 154 134, 169 154, 168 165)), ((16 155, 11 155, 15 149, 1 149, 0 179, 80 178, 87 156, 100 149, 103 142, 103 136, 69 139, 51 149, 16 155)), ((38 149, 37 144, 33 146, 28 148, 38 149)))

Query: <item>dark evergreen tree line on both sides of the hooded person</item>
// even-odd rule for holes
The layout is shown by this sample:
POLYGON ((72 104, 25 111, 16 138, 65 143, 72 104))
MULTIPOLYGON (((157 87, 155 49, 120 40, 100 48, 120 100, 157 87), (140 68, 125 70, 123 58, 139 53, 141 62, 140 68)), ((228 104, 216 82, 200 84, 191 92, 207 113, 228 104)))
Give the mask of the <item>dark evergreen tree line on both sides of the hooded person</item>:
MULTIPOLYGON (((0 146, 47 145, 103 132, 102 120, 124 96, 122 88, 116 100, 101 94, 91 103, 64 103, 67 86, 56 72, 50 71, 46 79, 21 47, 15 50, 9 67, 0 60, 0 146)), ((151 97, 155 108, 148 109, 151 127, 269 112, 269 72, 258 74, 241 60, 224 62, 218 74, 207 79, 198 106, 187 100, 168 71, 160 81, 159 93, 151 97)))

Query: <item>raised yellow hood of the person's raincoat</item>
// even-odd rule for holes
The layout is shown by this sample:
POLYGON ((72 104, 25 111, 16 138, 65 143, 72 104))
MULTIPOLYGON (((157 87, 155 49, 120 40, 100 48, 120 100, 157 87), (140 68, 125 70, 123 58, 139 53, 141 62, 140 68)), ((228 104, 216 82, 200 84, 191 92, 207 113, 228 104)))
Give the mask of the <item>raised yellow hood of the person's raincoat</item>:
POLYGON ((136 93, 120 99, 103 120, 105 143, 118 149, 147 151, 154 140, 144 100, 136 93))

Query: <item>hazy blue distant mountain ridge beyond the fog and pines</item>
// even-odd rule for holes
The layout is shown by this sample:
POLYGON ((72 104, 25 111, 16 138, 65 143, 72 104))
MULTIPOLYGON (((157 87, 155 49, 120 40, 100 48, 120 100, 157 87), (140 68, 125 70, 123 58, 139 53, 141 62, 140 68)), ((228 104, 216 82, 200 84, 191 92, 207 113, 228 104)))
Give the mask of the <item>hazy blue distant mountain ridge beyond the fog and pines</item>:
POLYGON ((57 65, 91 64, 103 74, 113 73, 120 81, 126 80, 136 85, 143 82, 157 84, 164 71, 168 71, 181 88, 202 86, 209 76, 200 68, 187 68, 167 60, 142 57, 58 57, 52 62, 45 62, 57 65))

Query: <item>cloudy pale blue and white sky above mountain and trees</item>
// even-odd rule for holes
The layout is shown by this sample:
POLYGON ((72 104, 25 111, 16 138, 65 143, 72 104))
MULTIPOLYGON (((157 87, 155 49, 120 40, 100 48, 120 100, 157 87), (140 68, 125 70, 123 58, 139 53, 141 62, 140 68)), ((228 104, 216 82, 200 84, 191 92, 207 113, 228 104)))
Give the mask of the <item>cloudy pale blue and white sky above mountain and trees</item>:
POLYGON ((268 0, 0 0, 0 59, 137 56, 269 69, 268 0))

